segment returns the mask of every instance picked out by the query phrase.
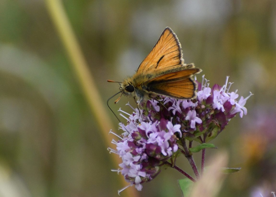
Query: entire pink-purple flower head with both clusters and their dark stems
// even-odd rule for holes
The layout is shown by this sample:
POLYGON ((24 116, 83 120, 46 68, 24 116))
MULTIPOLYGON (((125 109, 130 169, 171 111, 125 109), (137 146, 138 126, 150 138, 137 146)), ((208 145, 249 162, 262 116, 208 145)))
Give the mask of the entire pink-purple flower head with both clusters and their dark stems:
POLYGON ((120 172, 130 183, 129 186, 135 185, 139 191, 142 190, 142 183, 155 178, 163 166, 172 167, 195 181, 175 165, 177 156, 184 154, 195 175, 198 175, 192 152, 188 149, 192 147, 192 142, 203 144, 211 141, 234 116, 238 114, 242 118, 247 114, 244 106, 253 94, 250 92, 244 98, 239 97, 237 90, 230 92, 232 83, 228 79, 223 86, 215 84, 209 87, 208 80, 203 76, 202 82, 197 82, 198 93, 193 100, 158 96, 141 103, 140 109, 127 104, 133 109, 132 114, 120 109, 127 123, 119 123, 119 129, 123 130, 121 135, 110 131, 118 139, 112 141, 116 150, 109 150, 122 159, 120 169, 113 171, 120 172), (189 143, 188 147, 186 142, 189 143))

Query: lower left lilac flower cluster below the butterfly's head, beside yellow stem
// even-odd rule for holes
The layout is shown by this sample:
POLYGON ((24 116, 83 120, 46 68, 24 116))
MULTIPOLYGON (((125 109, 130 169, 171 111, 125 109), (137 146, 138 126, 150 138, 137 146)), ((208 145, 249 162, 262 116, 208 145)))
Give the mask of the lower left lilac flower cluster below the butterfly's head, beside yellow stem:
POLYGON ((119 141, 112 141, 117 151, 109 149, 123 160, 119 165, 122 169, 113 171, 121 172, 129 186, 135 184, 135 188, 141 191, 141 183, 158 175, 160 166, 177 151, 176 141, 177 136, 181 137, 181 131, 180 125, 172 125, 171 121, 164 118, 150 121, 144 115, 139 116, 137 109, 135 111, 132 115, 128 114, 127 125, 120 123, 125 132, 118 136, 119 141))

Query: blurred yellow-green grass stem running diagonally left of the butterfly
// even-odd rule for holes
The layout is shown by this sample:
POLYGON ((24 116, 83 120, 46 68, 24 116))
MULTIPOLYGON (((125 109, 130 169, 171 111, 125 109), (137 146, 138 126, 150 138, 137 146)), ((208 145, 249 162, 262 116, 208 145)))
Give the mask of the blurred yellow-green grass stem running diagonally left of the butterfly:
MULTIPOLYGON (((60 0, 46 0, 47 9, 52 18, 55 27, 59 33, 60 39, 68 53, 68 57, 72 62, 73 69, 78 77, 79 84, 86 97, 91 111, 94 114, 95 120, 98 123, 101 132, 101 137, 106 146, 112 141, 112 135, 108 135, 110 129, 114 128, 108 116, 106 108, 103 105, 102 98, 100 98, 99 91, 95 85, 94 79, 88 69, 87 63, 81 52, 81 48, 74 35, 73 29, 70 25, 68 17, 64 11, 62 2, 60 0)), ((116 154, 110 154, 116 164, 120 164, 120 158, 116 154)), ((120 176, 122 185, 128 185, 123 176, 120 176)), ((137 190, 134 187, 126 190, 128 196, 138 196, 137 190)))

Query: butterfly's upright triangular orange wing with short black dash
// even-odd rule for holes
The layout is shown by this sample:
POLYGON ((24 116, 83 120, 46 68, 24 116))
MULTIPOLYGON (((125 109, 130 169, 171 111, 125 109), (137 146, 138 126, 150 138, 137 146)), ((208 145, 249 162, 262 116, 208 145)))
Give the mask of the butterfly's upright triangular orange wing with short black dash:
POLYGON ((176 34, 167 27, 136 73, 158 72, 161 69, 168 70, 183 65, 181 44, 176 34))

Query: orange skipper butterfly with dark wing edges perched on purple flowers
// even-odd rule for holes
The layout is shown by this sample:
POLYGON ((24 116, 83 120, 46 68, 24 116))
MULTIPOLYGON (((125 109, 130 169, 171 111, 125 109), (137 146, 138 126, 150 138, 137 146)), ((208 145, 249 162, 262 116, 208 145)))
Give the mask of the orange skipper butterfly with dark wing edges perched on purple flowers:
POLYGON ((195 68, 194 64, 184 64, 181 44, 172 29, 167 27, 136 73, 118 82, 120 92, 117 94, 132 96, 137 105, 156 95, 193 99, 197 89, 193 75, 199 72, 201 69, 195 68))

